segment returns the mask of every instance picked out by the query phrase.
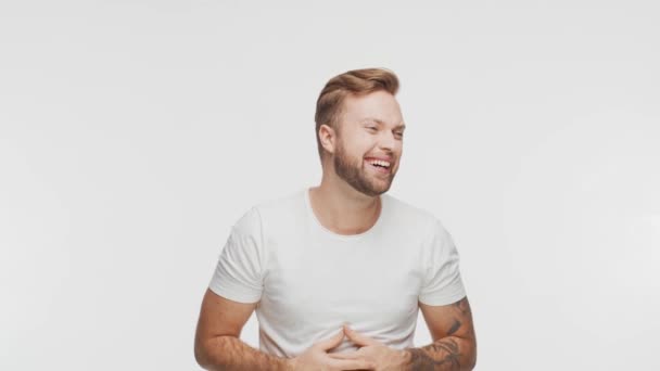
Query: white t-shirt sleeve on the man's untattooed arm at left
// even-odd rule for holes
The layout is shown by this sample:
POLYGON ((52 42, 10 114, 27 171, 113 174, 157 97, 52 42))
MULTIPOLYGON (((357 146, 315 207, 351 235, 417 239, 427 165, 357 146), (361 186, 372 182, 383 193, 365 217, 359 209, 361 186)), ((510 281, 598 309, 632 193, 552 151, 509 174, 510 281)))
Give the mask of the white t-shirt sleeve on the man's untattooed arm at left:
POLYGON ((264 255, 261 217, 253 207, 231 228, 208 289, 230 300, 258 302, 263 291, 264 255))

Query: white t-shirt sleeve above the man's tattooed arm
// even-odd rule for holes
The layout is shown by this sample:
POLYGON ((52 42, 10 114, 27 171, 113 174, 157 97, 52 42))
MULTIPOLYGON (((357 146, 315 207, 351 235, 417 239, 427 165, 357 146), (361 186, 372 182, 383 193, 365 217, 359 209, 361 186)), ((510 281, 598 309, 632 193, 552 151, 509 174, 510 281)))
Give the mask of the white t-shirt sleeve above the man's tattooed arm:
POLYGON ((424 280, 419 300, 427 305, 448 305, 466 296, 459 271, 458 251, 452 235, 435 220, 427 239, 424 280))

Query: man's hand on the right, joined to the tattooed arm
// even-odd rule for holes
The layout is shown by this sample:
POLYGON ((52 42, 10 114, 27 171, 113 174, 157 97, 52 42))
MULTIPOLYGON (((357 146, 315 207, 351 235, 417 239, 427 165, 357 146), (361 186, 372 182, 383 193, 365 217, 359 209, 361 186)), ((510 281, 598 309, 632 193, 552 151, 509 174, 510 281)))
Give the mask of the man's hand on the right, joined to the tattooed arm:
POLYGON ((344 334, 360 348, 353 353, 333 353, 328 355, 338 360, 360 359, 375 363, 377 371, 401 370, 404 366, 405 355, 402 350, 390 348, 389 346, 365 336, 355 330, 344 325, 344 334))

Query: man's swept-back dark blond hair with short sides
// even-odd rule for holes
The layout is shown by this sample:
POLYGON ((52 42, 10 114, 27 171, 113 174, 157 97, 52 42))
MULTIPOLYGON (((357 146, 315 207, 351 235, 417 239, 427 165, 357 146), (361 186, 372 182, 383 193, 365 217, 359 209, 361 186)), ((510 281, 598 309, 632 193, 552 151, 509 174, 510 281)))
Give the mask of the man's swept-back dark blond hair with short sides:
POLYGON ((386 68, 353 69, 331 78, 316 101, 316 143, 319 156, 323 156, 323 146, 318 137, 321 125, 339 128, 344 99, 348 94, 367 94, 384 90, 392 95, 398 91, 398 78, 386 68))

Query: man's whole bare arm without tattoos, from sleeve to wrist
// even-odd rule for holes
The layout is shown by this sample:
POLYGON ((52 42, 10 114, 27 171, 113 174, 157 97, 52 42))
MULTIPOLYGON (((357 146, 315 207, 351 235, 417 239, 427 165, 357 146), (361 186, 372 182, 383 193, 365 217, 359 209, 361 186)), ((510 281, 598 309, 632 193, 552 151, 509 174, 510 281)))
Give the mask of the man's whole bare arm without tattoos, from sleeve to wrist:
POLYGON ((256 303, 229 300, 206 290, 194 340, 194 357, 205 370, 289 370, 285 358, 242 342, 241 330, 256 303))

